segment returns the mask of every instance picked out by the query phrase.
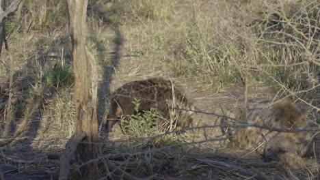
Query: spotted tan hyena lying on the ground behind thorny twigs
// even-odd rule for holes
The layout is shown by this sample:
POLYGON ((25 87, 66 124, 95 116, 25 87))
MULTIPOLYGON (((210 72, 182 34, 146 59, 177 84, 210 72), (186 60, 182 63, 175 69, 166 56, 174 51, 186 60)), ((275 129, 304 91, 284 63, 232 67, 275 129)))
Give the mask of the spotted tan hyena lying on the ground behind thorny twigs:
POLYGON ((308 127, 306 117, 289 100, 282 100, 276 104, 271 102, 248 104, 246 112, 245 108, 235 108, 228 110, 226 117, 230 118, 222 118, 221 122, 228 125, 222 131, 230 136, 229 145, 241 149, 256 149, 266 162, 278 160, 291 166, 297 157, 305 155, 308 150, 311 141, 309 132, 277 132, 261 127, 246 127, 239 122, 282 130, 308 127))

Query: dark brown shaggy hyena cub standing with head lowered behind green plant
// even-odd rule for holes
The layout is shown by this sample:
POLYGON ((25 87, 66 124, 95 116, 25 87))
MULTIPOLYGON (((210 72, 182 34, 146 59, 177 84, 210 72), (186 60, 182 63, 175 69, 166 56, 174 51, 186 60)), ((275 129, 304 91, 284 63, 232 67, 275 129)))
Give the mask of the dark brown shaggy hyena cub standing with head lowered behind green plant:
POLYGON ((111 132, 114 123, 119 121, 120 117, 136 113, 135 105, 132 103, 135 98, 141 100, 139 112, 150 108, 155 108, 159 112, 157 127, 168 125, 170 118, 174 119, 172 124, 177 129, 189 127, 193 121, 192 110, 195 106, 187 100, 181 87, 163 78, 149 78, 128 82, 114 91, 110 98, 110 110, 107 116, 108 132, 111 132), (174 117, 170 117, 173 114, 174 117))

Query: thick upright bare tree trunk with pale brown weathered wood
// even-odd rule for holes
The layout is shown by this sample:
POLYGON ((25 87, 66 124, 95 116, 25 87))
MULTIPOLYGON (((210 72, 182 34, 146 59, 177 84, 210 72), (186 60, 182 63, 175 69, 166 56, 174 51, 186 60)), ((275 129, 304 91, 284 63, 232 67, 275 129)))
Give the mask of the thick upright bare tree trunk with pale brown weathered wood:
MULTIPOLYGON (((96 120, 96 66, 94 57, 85 47, 85 20, 88 0, 68 0, 70 27, 72 37, 72 57, 75 70, 75 126, 76 131, 87 134, 87 142, 98 140, 98 123, 96 120), (91 91, 90 91, 91 89, 91 91)), ((76 160, 87 162, 96 158, 96 145, 81 144, 77 148, 76 160)), ((72 179, 97 179, 96 163, 80 168, 81 177, 77 171, 72 179)))

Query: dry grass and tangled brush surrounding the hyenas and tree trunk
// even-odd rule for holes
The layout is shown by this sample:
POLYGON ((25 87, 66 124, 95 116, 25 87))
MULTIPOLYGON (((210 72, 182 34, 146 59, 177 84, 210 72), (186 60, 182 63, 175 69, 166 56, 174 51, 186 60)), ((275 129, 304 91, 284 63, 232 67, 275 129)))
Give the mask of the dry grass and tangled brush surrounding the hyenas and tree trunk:
MULTIPOLYGON (((319 132, 319 9, 317 0, 89 1, 86 46, 98 65, 99 127, 116 87, 165 76, 186 85, 187 93, 210 91, 214 97, 224 95, 228 85, 239 85, 245 104, 255 98, 250 89, 270 87, 271 99, 294 100, 319 132)), ((61 153, 75 131, 68 5, 65 0, 25 0, 5 21, 8 50, 3 47, 0 58, 0 132, 3 138, 13 134, 15 140, 1 147, 5 170, 0 174, 23 179, 32 171, 39 179, 50 179, 59 165, 46 158, 61 153), (41 177, 44 171, 47 177, 41 177)), ((232 98, 224 108, 237 105, 232 98)), ((221 136, 197 139, 191 130, 163 133, 153 127, 157 111, 141 114, 139 102, 135 105, 137 114, 129 119, 139 121, 124 119, 127 134, 134 138, 107 141, 100 128, 100 177, 319 178, 318 166, 291 169, 243 153, 227 154, 228 149, 219 149, 224 148, 221 136)), ((320 152, 319 140, 315 142, 315 153, 308 158, 313 164, 320 152)))

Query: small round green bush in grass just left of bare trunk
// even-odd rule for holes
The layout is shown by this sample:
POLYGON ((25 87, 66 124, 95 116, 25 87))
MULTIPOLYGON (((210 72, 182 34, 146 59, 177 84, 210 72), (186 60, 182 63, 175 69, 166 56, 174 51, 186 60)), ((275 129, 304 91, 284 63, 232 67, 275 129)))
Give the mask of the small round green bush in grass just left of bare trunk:
POLYGON ((55 64, 53 70, 51 70, 46 76, 46 82, 57 88, 70 87, 74 81, 75 76, 72 71, 72 66, 62 65, 60 63, 55 64))

